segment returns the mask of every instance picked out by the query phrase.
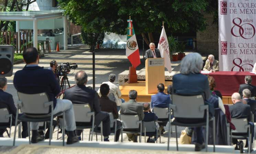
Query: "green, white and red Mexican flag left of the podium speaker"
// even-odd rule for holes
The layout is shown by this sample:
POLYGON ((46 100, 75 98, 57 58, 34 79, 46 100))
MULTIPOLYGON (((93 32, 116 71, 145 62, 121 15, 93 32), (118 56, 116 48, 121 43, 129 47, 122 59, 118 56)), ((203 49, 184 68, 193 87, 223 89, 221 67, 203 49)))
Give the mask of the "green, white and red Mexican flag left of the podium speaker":
POLYGON ((141 64, 140 52, 137 45, 137 40, 135 37, 132 20, 127 20, 128 28, 127 28, 127 41, 126 41, 126 56, 131 62, 132 66, 136 68, 141 64))

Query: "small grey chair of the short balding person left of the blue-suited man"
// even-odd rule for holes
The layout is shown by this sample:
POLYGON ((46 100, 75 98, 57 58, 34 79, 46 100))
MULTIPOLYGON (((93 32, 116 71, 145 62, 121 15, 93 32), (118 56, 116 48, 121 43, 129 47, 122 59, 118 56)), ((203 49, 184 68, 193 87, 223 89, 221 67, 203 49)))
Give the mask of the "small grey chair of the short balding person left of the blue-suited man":
MULTIPOLYGON (((156 143, 158 139, 158 131, 161 133, 160 130, 158 130, 158 127, 155 123, 155 121, 143 121, 144 123, 144 133, 142 133, 142 136, 145 137, 145 143, 146 143, 146 136, 151 137, 155 136, 156 134, 156 143)), ((160 136, 160 143, 161 143, 161 135, 160 136)))

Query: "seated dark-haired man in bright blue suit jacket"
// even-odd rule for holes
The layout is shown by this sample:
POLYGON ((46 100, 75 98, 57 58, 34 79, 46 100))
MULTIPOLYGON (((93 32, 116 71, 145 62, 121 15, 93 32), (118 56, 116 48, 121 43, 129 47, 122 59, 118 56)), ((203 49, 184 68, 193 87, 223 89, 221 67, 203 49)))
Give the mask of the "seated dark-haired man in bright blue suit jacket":
MULTIPOLYGON (((169 107, 169 104, 171 104, 170 95, 164 93, 165 91, 164 84, 158 84, 157 91, 158 91, 157 94, 151 96, 151 106, 152 106, 153 112, 154 112, 154 107, 166 108, 166 107, 169 107)), ((165 132, 164 126, 166 126, 166 124, 167 122, 158 123, 161 134, 165 132)))

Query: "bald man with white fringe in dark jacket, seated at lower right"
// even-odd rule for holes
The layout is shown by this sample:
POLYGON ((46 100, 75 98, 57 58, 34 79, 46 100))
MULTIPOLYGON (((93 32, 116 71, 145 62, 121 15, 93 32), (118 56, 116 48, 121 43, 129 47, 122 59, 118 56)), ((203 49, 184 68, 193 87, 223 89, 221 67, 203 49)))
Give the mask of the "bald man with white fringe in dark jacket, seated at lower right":
MULTIPOLYGON (((229 107, 231 118, 234 119, 242 119, 247 118, 248 124, 250 125, 250 129, 252 132, 252 141, 254 137, 254 123, 252 123, 252 115, 251 115, 251 108, 250 105, 243 104, 241 102, 241 96, 239 93, 235 92, 231 96, 232 102, 234 105, 229 107)), ((233 144, 238 144, 237 139, 232 140, 233 144)), ((251 146, 252 147, 252 146, 251 146)))

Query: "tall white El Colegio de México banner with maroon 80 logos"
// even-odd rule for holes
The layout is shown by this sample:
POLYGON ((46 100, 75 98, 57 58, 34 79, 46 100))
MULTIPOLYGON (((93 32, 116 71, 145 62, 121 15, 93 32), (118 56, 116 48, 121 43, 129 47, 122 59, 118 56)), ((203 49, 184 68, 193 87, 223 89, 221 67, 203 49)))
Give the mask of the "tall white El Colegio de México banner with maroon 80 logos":
POLYGON ((252 72, 256 63, 256 1, 219 0, 219 65, 252 72))

